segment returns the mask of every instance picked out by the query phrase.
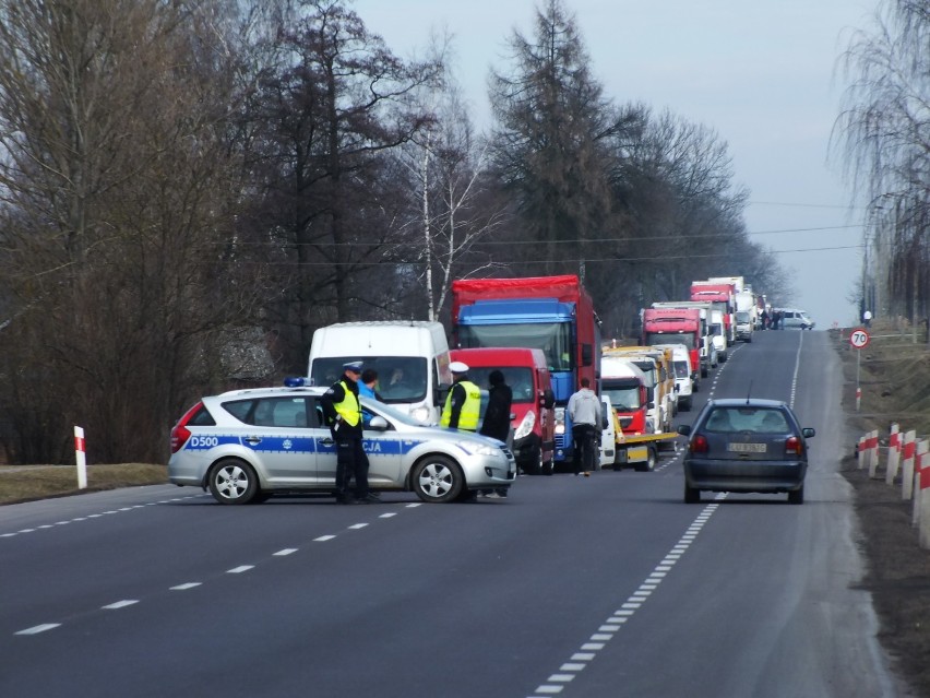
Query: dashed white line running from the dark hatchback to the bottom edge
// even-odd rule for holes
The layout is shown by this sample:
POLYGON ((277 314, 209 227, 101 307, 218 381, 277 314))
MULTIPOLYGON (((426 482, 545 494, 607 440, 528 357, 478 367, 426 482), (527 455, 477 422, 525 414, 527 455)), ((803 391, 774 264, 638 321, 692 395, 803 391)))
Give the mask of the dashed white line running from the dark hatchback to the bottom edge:
MULTIPOLYGON (((725 493, 719 494, 716 496, 716 499, 719 501, 725 499, 726 496, 727 495, 725 493)), ((676 543, 661 561, 656 565, 649 576, 646 577, 645 581, 640 584, 639 589, 630 594, 627 601, 623 602, 620 607, 615 611, 600 627, 597 628, 597 632, 593 634, 585 642, 582 643, 579 648, 582 651, 573 653, 570 661, 559 667, 560 673, 549 676, 549 678, 546 679, 546 683, 537 686, 536 690, 533 691, 532 696, 528 698, 541 698, 542 696, 555 696, 562 693, 565 685, 574 679, 579 672, 584 671, 589 662, 594 661, 597 653, 607 647, 607 643, 613 639, 613 636, 620 630, 623 624, 632 618, 636 611, 643 607, 643 604, 646 603, 652 593, 658 588, 666 576, 672 570, 676 563, 694 542, 694 539, 701 532, 701 529, 704 528, 707 520, 717 510, 718 506, 719 505, 717 504, 710 504, 704 507, 701 514, 694 519, 690 527, 688 527, 678 543, 676 543)))

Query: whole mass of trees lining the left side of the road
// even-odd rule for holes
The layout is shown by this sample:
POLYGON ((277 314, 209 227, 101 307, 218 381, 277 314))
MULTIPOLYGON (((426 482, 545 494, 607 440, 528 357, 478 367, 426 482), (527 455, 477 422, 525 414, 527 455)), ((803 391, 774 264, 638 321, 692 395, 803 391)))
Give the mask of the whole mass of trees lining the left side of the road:
POLYGON ((202 394, 302 375, 335 321, 440 319, 476 275, 579 273, 608 336, 694 279, 787 300, 710 128, 618 104, 561 0, 478 132, 450 40, 347 0, 0 0, 0 439, 164 462, 202 394))

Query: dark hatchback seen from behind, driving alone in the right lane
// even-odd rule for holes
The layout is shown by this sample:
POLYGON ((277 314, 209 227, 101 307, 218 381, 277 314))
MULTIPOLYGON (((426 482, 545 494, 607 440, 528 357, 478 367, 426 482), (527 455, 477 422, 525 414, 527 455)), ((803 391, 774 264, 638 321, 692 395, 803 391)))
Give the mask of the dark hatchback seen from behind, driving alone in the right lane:
POLYGON ((684 454, 684 502, 695 504, 701 490, 787 493, 790 504, 804 501, 807 439, 791 409, 760 398, 710 400, 688 436, 684 454))

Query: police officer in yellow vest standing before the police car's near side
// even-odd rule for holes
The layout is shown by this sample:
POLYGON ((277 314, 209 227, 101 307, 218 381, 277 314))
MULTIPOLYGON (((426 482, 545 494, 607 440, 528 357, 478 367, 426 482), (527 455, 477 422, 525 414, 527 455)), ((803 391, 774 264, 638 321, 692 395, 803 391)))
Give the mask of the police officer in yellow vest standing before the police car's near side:
POLYGON ((344 364, 343 369, 343 377, 320 399, 323 416, 336 442, 336 500, 341 504, 371 504, 379 499, 368 489, 368 456, 361 447, 361 405, 358 402, 361 362, 344 364), (353 476, 355 497, 349 494, 353 476))

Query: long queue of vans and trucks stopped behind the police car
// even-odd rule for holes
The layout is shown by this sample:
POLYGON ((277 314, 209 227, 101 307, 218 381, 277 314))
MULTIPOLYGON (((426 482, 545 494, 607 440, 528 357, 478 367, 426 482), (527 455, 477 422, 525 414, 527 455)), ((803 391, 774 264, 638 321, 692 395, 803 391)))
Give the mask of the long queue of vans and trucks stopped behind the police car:
POLYGON ((451 362, 466 363, 482 387, 501 370, 513 390, 512 449, 527 474, 572 461, 567 405, 586 378, 605 404, 599 465, 652 470, 657 451, 673 448, 675 414, 691 409, 737 340, 751 341, 759 316, 742 277, 695 281, 688 300, 642 310, 636 345, 604 345, 576 275, 463 279, 452 282, 451 342, 439 322, 337 323, 314 333, 308 376, 329 385, 344 363, 362 360, 379 371, 384 402, 438 422, 451 362))

